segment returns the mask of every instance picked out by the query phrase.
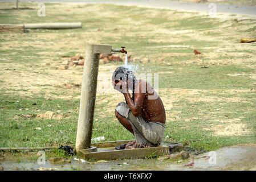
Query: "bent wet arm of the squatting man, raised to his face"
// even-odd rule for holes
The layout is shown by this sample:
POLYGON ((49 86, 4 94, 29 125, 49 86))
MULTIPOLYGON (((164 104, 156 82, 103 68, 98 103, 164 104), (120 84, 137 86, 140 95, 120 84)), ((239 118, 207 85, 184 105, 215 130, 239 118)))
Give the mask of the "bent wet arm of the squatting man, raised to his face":
POLYGON ((141 89, 141 85, 142 85, 141 82, 139 82, 139 84, 136 85, 135 90, 137 92, 135 92, 134 101, 132 100, 129 92, 124 93, 125 101, 127 101, 129 109, 132 111, 132 114, 135 116, 140 115, 141 109, 143 108, 144 99, 145 99, 145 93, 141 93, 141 90, 143 90, 141 89))

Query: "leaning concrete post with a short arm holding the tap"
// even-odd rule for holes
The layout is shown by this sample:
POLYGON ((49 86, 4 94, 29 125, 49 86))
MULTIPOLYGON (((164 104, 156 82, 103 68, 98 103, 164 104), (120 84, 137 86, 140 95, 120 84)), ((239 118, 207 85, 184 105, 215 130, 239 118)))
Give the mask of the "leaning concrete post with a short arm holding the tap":
POLYGON ((110 54, 111 48, 111 46, 103 45, 86 45, 78 130, 76 133, 76 151, 91 147, 99 57, 100 53, 110 54))

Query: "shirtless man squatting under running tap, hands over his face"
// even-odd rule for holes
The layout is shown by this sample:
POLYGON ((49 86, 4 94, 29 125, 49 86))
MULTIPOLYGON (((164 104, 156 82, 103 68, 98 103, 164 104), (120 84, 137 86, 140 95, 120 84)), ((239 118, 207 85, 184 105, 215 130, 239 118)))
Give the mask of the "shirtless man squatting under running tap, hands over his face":
POLYGON ((112 82, 126 101, 116 106, 116 118, 136 140, 116 149, 158 146, 164 137, 165 109, 156 91, 146 81, 137 80, 131 69, 125 67, 116 69, 112 82))

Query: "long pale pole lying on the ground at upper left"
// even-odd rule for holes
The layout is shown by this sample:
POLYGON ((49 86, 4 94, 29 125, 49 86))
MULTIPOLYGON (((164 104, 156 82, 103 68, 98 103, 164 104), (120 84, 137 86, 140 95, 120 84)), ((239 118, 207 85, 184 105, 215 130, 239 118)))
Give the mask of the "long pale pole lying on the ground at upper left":
POLYGON ((25 23, 25 29, 82 28, 82 23, 25 23))

